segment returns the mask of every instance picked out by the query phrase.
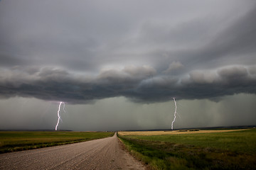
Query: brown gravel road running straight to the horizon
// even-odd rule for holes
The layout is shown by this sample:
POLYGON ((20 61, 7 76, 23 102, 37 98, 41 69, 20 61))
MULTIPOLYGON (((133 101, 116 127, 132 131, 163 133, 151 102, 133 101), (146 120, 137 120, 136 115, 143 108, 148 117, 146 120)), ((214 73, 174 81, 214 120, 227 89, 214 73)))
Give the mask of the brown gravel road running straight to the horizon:
POLYGON ((144 169, 117 135, 70 145, 0 154, 0 169, 144 169))

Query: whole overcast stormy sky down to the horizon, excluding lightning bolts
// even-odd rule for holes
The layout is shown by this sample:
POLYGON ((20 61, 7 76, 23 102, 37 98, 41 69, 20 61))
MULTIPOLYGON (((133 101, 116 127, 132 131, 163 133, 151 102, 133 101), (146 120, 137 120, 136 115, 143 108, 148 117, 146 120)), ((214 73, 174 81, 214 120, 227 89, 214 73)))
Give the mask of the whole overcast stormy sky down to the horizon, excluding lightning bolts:
POLYGON ((256 124, 256 2, 0 1, 0 129, 256 124))

